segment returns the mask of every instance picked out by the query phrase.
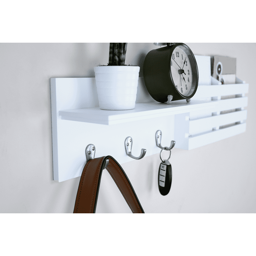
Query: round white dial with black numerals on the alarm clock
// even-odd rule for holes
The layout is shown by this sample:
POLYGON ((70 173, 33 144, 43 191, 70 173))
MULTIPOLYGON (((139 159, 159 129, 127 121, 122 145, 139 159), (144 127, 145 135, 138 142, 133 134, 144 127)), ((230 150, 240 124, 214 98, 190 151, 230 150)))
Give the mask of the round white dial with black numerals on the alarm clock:
POLYGON ((189 96, 192 85, 191 65, 187 54, 179 46, 172 53, 170 74, 179 93, 189 96))

